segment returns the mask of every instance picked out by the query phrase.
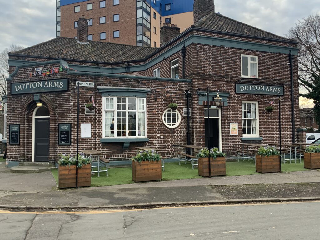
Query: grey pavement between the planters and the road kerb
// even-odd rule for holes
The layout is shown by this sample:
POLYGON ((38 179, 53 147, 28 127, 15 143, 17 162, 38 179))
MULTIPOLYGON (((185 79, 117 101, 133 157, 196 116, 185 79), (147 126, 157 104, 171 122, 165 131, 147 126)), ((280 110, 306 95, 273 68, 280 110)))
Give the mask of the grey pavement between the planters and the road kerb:
POLYGON ((320 171, 57 190, 51 172, 11 173, 0 163, 2 208, 109 208, 300 199, 320 199, 320 171))

